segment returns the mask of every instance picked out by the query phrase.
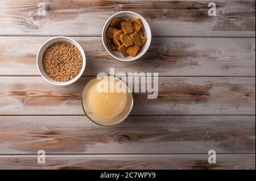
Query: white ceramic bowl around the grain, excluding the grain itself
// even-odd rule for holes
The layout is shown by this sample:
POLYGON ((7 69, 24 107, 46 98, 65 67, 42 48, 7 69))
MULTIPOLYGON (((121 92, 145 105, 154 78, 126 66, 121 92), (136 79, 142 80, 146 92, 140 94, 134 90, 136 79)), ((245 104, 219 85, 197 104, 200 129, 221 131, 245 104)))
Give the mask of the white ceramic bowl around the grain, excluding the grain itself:
POLYGON ((48 81, 49 83, 52 83, 53 85, 57 85, 57 86, 70 85, 71 83, 76 82, 81 77, 82 73, 84 72, 85 64, 86 64, 86 58, 85 58, 85 53, 84 53, 84 50, 82 49, 82 47, 75 40, 73 40, 69 37, 64 37, 64 36, 53 37, 53 38, 47 40, 46 42, 44 42, 38 51, 38 55, 36 56, 36 65, 38 66, 38 70, 39 70, 40 74, 42 75, 42 77, 44 79, 46 79, 46 81, 48 81), (57 43, 59 41, 65 41, 65 42, 75 45, 75 47, 77 49, 79 49, 79 51, 82 54, 82 69, 81 69, 80 73, 75 78, 73 78, 72 80, 67 81, 67 82, 59 82, 59 81, 53 80, 46 74, 46 71, 44 70, 44 67, 43 67, 44 52, 46 51, 46 49, 49 46, 51 46, 52 44, 57 43))

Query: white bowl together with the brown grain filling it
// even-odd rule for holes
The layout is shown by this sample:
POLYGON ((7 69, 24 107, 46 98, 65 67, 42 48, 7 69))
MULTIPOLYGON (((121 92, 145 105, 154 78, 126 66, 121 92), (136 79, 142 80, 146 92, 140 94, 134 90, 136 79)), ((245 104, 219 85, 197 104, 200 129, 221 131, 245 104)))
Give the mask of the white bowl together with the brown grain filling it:
POLYGON ((76 82, 84 72, 86 58, 82 47, 69 37, 53 37, 39 49, 36 64, 42 77, 57 86, 76 82))

